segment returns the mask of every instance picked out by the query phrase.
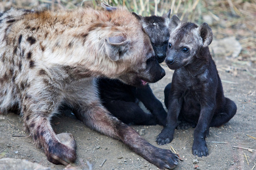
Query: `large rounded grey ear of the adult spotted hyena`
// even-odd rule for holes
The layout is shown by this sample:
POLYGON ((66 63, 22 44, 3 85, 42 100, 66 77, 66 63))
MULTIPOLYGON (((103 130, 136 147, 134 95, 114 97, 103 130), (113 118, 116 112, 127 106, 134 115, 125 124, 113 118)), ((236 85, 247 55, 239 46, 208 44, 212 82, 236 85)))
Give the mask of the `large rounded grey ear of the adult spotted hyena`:
POLYGON ((128 50, 129 41, 125 36, 105 37, 105 48, 112 61, 118 61, 128 50))

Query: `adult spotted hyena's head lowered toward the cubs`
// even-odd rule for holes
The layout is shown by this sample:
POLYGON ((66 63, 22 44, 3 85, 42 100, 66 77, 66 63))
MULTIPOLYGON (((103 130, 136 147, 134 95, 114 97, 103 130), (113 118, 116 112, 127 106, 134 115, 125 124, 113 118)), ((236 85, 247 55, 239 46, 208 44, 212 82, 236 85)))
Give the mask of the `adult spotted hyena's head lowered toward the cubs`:
MULTIPOLYGON (((111 6, 106 7, 107 11, 113 13, 119 9, 111 6)), ((129 15, 131 14, 125 16, 128 17, 129 15)), ((143 86, 147 82, 157 82, 163 78, 165 71, 156 60, 150 38, 135 16, 131 15, 131 18, 126 20, 129 20, 130 27, 125 28, 123 31, 125 33, 105 39, 108 57, 117 65, 126 67, 125 71, 116 75, 115 78, 132 86, 143 86)))

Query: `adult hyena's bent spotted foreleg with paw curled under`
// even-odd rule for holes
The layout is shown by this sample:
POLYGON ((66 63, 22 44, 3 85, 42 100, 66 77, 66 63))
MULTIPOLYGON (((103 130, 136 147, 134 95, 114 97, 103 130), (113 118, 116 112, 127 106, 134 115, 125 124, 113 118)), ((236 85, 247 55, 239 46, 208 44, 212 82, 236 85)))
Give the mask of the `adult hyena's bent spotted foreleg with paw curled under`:
POLYGON ((43 148, 47 159, 51 163, 68 164, 75 162, 75 139, 71 134, 56 135, 51 127, 50 119, 53 116, 54 107, 49 103, 53 102, 47 103, 41 100, 36 104, 31 103, 33 103, 32 100, 29 103, 25 101, 22 106, 22 112, 24 125, 36 145, 43 148))

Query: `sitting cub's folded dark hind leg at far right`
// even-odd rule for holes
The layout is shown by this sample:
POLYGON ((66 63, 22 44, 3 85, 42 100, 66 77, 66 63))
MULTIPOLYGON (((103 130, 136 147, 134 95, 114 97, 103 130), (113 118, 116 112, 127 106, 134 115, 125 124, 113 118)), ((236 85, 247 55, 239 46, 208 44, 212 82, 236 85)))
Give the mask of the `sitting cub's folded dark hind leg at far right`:
POLYGON ((224 112, 217 113, 213 116, 212 121, 210 122, 210 127, 221 126, 228 122, 237 112, 237 105, 234 101, 226 98, 226 104, 224 112))

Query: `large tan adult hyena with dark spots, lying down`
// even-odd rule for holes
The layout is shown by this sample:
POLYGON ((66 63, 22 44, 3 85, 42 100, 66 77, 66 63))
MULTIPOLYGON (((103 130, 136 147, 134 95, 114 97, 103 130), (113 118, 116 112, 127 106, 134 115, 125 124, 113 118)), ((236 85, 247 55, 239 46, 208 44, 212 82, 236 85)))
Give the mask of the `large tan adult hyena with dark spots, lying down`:
POLYGON ((133 86, 163 77, 152 59, 150 39, 129 11, 12 9, 0 21, 0 112, 18 105, 24 126, 50 162, 76 159, 72 136, 71 142, 63 142, 63 135, 56 135, 50 125, 60 105, 66 104, 85 125, 121 140, 148 162, 175 167, 171 151, 150 145, 98 98, 96 77, 133 86))

